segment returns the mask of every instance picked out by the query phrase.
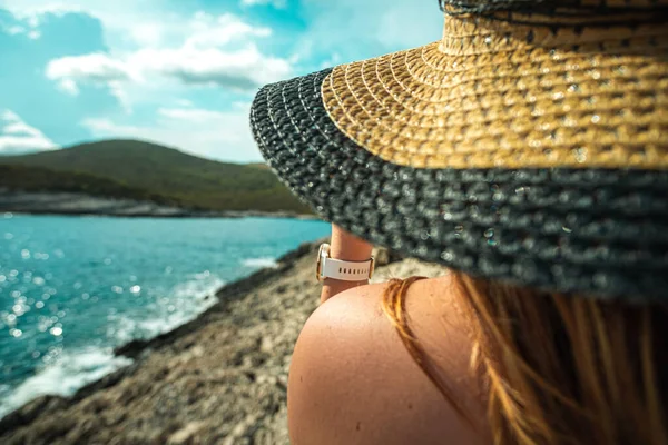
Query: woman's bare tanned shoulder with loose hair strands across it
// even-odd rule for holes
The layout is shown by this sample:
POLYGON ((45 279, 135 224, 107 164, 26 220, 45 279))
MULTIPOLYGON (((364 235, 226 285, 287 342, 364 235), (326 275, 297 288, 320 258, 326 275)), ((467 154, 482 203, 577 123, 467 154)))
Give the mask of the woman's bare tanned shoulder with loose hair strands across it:
MULTIPOLYGON (((448 320, 448 278, 418 281, 407 306, 419 339, 461 387, 470 348, 456 320, 448 320)), ((382 312, 384 290, 371 285, 340 294, 306 323, 288 385, 293 443, 480 443, 404 348, 382 312)))

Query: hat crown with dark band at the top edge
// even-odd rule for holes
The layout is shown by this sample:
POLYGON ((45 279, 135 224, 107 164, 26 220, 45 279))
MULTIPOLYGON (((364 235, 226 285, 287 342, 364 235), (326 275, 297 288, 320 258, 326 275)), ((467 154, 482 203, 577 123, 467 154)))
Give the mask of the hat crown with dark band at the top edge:
MULTIPOLYGON (((668 0, 440 0, 451 56, 579 48, 668 57, 668 0), (651 44, 646 44, 649 41, 651 44)), ((558 55, 556 55, 556 58, 558 55)))

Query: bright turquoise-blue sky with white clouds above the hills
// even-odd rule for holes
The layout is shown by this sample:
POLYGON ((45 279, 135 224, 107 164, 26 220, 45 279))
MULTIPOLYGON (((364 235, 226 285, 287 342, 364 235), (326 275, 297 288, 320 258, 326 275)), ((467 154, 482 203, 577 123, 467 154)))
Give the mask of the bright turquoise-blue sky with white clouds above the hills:
POLYGON ((0 0, 0 155, 130 138, 258 161, 263 85, 441 32, 436 0, 0 0))

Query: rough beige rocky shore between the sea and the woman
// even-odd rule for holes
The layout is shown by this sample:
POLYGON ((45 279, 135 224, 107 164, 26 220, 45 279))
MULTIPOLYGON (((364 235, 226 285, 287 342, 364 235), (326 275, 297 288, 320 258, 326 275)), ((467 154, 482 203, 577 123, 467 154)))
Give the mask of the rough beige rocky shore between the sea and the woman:
MULTIPOLYGON (((38 398, 0 421, 2 444, 288 444, 287 372, 316 308, 318 243, 222 288, 197 319, 117 354, 127 368, 70 398, 38 398)), ((374 280, 440 266, 379 251, 374 280)))

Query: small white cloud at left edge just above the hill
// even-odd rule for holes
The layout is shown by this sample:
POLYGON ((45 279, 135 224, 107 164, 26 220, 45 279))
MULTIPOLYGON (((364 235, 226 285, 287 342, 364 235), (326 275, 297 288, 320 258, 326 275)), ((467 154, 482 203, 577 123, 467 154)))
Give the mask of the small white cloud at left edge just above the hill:
POLYGON ((0 111, 0 154, 52 150, 58 146, 10 110, 0 111))

